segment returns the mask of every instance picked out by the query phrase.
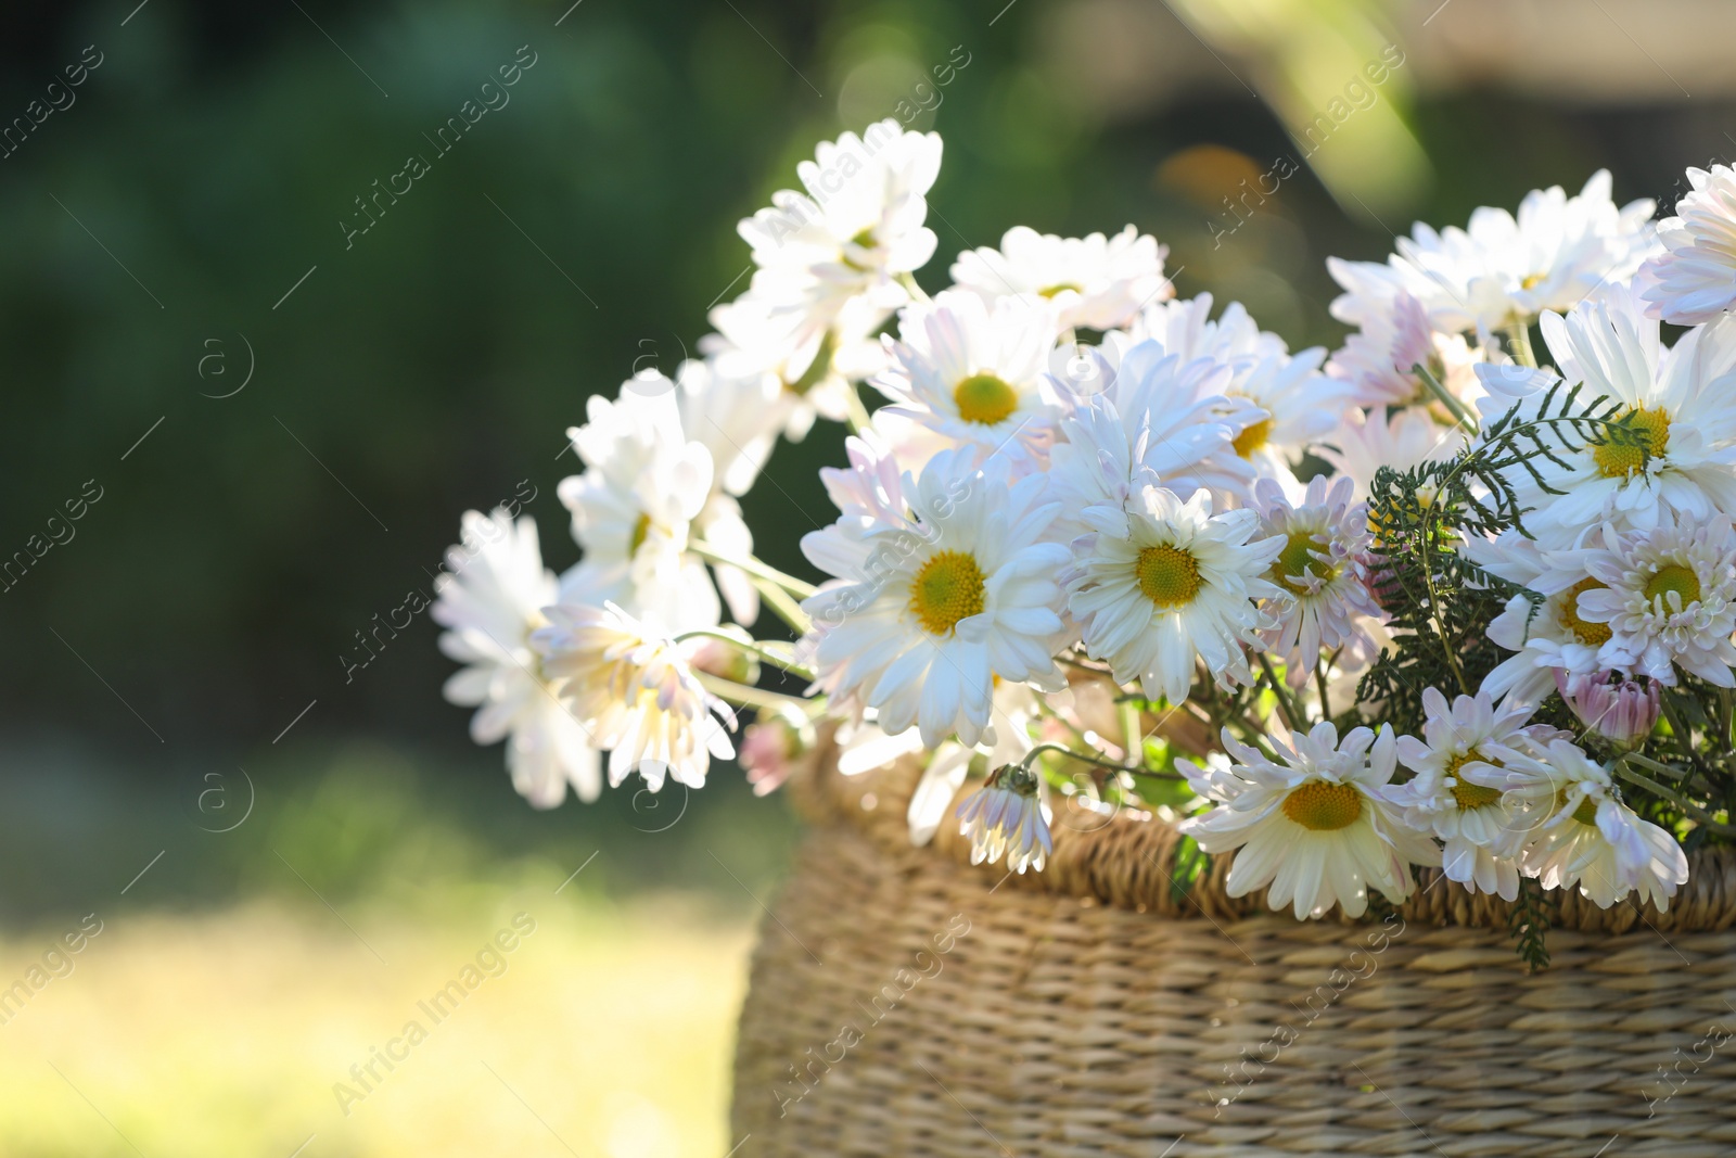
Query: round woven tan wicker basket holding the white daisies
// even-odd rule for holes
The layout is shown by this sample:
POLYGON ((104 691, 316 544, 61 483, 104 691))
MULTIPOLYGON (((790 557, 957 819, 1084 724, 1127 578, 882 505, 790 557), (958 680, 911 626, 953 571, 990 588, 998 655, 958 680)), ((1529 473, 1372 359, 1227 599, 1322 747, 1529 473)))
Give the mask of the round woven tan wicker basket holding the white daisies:
POLYGON ((1043 873, 913 849, 913 767, 793 792, 812 823, 753 957, 734 1139, 773 1158, 1736 1155, 1736 858, 1668 913, 1507 906, 1425 875, 1384 922, 1182 901, 1175 832, 1057 825, 1043 873))

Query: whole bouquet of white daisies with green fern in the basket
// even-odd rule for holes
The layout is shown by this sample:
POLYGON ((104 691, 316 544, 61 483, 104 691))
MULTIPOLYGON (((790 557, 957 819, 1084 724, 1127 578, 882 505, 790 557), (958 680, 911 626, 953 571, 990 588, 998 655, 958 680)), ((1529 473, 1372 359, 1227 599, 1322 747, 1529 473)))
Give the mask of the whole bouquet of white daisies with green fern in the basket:
POLYGON ((1016 227, 930 297, 939 165, 882 122, 741 222, 703 359, 569 431, 569 571, 465 516, 446 694, 533 804, 594 799, 602 752, 696 788, 746 707, 762 792, 821 724, 840 771, 925 760, 918 844, 1042 870, 1057 807, 1141 809, 1191 837, 1179 887, 1233 854, 1229 892, 1297 918, 1441 866, 1533 964, 1545 891, 1663 910, 1736 837, 1736 174, 1689 170, 1661 222, 1599 172, 1332 260, 1358 330, 1328 358, 1177 299, 1132 226, 1016 227), (819 587, 738 505, 816 418, 852 429, 819 587))

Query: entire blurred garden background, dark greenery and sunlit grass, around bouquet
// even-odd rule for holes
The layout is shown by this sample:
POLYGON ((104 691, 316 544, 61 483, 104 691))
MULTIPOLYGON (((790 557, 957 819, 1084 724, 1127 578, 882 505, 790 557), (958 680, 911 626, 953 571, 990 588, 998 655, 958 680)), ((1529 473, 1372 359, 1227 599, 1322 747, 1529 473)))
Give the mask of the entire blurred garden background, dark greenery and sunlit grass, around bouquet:
MULTIPOLYGON (((101 488, 0 592, 0 986, 106 922, 0 1024, 3 1153, 734 1144, 729 1023, 783 804, 726 767, 691 800, 533 813, 441 701, 425 616, 349 681, 342 656, 523 479, 550 564, 575 559, 564 429, 696 347, 746 283, 734 222, 816 141, 894 115, 944 135, 930 288, 1012 224, 1134 222, 1182 295, 1293 345, 1340 339, 1328 253, 1599 167, 1618 201, 1674 203, 1684 165, 1736 149, 1736 10, 1710 2, 568 5, 0 17, 0 123, 26 118, 0 160, 0 557, 101 488), (347 243, 356 198, 521 45, 510 104, 347 243), (344 1069, 521 908, 549 936, 470 1036, 339 1115, 344 1069)), ((840 441, 779 448, 748 497, 774 564, 807 573, 840 441)))

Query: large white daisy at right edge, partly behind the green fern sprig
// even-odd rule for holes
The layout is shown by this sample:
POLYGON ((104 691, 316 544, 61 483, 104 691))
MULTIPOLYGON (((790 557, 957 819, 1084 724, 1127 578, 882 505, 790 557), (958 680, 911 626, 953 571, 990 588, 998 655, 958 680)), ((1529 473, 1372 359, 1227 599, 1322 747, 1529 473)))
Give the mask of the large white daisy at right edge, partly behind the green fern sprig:
MULTIPOLYGON (((1674 349, 1627 290, 1583 302, 1571 314, 1543 314, 1543 337, 1578 401, 1620 403, 1625 422, 1647 436, 1642 450, 1606 439, 1561 451, 1569 465, 1538 458, 1542 490, 1526 472, 1514 481, 1526 528, 1549 545, 1573 545, 1602 521, 1616 530, 1656 526, 1668 512, 1705 519, 1736 512, 1736 323, 1689 330, 1674 349)), ((1535 396, 1519 401, 1521 417, 1535 396)))

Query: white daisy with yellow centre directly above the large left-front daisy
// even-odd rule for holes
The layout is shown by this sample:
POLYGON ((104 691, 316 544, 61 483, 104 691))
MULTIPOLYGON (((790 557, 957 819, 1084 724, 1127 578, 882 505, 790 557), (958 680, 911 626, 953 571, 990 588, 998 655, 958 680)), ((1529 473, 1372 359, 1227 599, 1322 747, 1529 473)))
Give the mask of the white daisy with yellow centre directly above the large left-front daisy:
POLYGON ((892 413, 976 448, 977 460, 1049 450, 1057 410, 1047 370, 1059 332, 1050 304, 948 290, 904 307, 898 332, 901 340, 887 339, 892 365, 873 380, 892 413))

